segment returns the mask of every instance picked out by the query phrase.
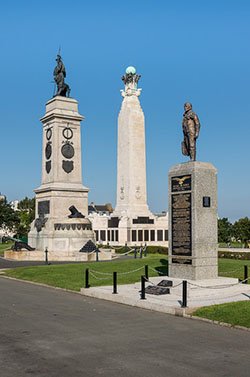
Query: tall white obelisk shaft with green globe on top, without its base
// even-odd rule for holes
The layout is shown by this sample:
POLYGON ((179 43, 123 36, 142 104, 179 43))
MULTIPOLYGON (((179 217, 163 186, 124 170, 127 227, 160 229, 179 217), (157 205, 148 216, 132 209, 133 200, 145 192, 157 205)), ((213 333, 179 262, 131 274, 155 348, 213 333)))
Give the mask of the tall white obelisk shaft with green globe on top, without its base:
POLYGON ((118 118, 117 201, 113 216, 151 216, 147 205, 144 114, 140 105, 140 75, 128 67, 118 118))

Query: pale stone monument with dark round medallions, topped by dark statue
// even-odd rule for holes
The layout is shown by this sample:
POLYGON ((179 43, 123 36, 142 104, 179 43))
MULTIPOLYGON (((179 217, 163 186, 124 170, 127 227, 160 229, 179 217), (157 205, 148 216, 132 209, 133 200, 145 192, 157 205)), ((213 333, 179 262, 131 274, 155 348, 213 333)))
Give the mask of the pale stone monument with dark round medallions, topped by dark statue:
POLYGON ((88 191, 82 184, 81 124, 78 102, 67 97, 66 70, 57 56, 56 95, 47 102, 43 124, 42 183, 35 190, 36 219, 29 232, 34 252, 48 249, 51 259, 81 259, 80 249, 94 232, 88 215, 88 191))

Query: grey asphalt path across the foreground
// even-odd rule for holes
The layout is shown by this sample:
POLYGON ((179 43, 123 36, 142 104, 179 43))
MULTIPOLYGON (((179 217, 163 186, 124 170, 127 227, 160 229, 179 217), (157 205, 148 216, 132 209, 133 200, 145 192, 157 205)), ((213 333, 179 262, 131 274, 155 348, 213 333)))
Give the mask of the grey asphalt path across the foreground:
POLYGON ((249 377, 250 332, 0 277, 2 377, 249 377))

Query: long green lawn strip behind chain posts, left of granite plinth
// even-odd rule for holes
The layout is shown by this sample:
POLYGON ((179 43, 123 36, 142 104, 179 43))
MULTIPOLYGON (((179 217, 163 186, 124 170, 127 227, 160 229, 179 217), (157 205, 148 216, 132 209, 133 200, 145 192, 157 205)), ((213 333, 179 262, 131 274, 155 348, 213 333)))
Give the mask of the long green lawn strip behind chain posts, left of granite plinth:
POLYGON ((4 271, 4 274, 17 279, 80 291, 84 286, 86 268, 90 269, 90 285, 112 285, 113 271, 117 272, 117 282, 119 285, 139 281, 141 275, 144 275, 146 264, 149 266, 150 276, 167 275, 167 259, 165 256, 159 254, 148 255, 143 259, 119 259, 108 262, 18 267, 4 271))

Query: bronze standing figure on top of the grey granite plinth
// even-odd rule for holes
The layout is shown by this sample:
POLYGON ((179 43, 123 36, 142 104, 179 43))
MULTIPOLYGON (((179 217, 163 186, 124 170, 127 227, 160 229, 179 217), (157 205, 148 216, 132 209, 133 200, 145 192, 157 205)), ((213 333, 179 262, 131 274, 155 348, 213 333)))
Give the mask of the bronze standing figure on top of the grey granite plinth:
POLYGON ((181 143, 182 154, 189 156, 191 161, 196 160, 196 139, 200 132, 200 121, 198 116, 192 110, 192 104, 184 104, 184 114, 182 120, 182 130, 184 140, 181 143))

